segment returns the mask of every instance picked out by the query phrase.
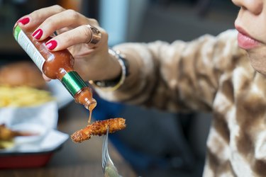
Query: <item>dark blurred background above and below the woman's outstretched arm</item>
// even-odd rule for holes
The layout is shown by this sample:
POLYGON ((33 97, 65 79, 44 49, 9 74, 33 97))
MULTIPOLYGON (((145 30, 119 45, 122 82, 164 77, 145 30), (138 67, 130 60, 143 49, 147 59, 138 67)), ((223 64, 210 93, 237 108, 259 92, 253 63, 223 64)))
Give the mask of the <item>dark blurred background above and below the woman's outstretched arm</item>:
MULTIPOLYGON (((110 47, 218 35, 234 28, 238 13, 229 0, 0 0, 0 67, 29 59, 13 39, 18 18, 53 4, 96 18, 109 33, 110 47)), ((201 176, 211 114, 165 113, 98 100, 94 119, 126 118, 126 130, 110 138, 139 175, 201 176)))

